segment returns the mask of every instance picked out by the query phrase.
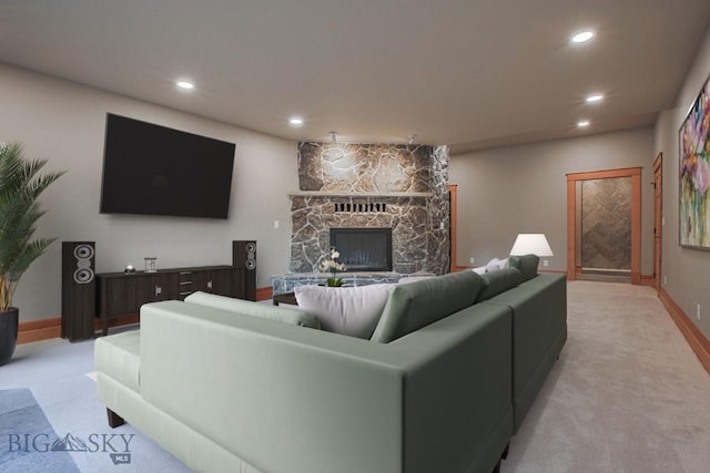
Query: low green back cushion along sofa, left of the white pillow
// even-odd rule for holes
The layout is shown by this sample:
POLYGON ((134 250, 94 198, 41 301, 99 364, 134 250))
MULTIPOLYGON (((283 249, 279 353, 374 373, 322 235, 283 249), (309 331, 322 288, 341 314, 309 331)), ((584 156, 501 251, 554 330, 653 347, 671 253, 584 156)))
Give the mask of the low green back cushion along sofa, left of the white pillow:
POLYGON ((185 302, 197 306, 213 307, 215 309, 229 310, 243 313, 245 316, 260 317, 262 319, 275 320, 294 326, 320 329, 318 319, 304 310, 274 307, 267 304, 253 302, 251 300, 234 299, 232 297, 216 296, 207 292, 193 292, 185 297, 185 302))

